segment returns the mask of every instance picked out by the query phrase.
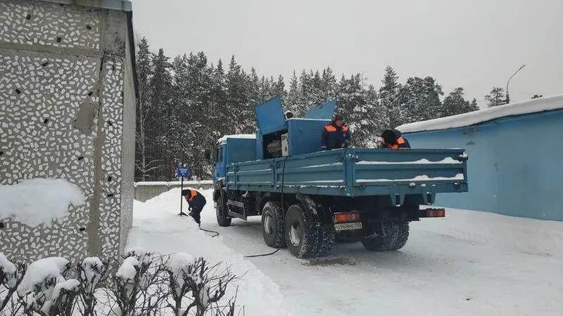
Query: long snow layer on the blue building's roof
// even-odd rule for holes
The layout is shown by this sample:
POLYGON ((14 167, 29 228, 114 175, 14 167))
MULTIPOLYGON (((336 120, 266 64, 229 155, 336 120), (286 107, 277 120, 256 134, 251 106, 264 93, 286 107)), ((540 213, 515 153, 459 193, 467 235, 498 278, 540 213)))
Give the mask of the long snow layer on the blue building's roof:
POLYGON ((550 110, 563 109, 563 95, 550 96, 526 100, 498 107, 489 107, 484 110, 442 117, 440 119, 430 119, 429 121, 419 121, 411 124, 398 126, 397 129, 403 133, 416 131, 434 131, 438 129, 455 129, 457 127, 472 126, 475 124, 510 117, 521 114, 531 114, 550 110))

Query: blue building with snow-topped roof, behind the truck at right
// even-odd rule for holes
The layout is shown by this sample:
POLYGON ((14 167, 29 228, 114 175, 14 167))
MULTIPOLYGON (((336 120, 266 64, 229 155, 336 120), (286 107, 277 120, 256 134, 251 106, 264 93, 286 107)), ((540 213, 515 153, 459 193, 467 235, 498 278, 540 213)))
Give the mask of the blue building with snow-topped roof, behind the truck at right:
POLYGON ((563 95, 405 124, 413 148, 464 148, 469 192, 436 204, 563 220, 563 95))

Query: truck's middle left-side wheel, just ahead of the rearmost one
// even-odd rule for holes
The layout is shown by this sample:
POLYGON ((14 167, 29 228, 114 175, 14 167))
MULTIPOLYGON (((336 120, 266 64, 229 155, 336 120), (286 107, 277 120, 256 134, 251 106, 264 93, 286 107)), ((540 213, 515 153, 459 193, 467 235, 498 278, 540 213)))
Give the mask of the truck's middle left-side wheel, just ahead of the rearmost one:
POLYGON ((262 237, 264 242, 273 248, 283 248, 284 209, 277 202, 266 202, 262 208, 262 237))

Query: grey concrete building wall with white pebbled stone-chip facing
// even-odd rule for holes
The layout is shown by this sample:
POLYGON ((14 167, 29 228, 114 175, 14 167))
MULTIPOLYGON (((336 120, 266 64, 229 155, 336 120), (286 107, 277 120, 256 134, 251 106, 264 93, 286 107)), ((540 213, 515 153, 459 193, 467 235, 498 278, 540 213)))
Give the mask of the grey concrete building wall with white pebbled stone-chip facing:
POLYGON ((134 93, 125 14, 0 0, 0 184, 64 178, 87 197, 51 228, 0 218, 0 251, 13 260, 116 256, 126 242, 134 93))

